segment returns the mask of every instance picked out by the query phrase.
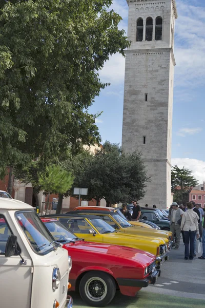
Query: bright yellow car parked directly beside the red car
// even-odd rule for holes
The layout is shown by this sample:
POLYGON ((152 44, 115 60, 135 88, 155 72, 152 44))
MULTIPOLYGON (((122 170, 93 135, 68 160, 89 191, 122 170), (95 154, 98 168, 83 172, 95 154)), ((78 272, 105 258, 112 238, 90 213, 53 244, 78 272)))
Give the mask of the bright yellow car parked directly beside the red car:
POLYGON ((155 255, 158 262, 168 260, 168 239, 119 233, 94 215, 55 214, 44 217, 58 219, 77 237, 86 241, 138 248, 155 255))

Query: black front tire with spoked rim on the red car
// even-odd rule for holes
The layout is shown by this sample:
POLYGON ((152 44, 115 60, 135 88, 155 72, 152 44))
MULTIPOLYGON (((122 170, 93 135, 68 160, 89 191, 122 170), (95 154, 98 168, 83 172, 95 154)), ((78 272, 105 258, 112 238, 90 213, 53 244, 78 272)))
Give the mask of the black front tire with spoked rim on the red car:
POLYGON ((79 292, 81 298, 89 306, 104 307, 115 296, 116 285, 110 275, 103 272, 91 271, 86 273, 80 280, 79 292))

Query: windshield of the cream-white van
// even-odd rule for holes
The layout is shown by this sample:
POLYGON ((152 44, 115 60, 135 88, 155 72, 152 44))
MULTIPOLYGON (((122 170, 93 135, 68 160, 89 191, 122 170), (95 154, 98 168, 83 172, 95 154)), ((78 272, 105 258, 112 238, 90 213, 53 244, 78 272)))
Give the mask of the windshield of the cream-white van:
POLYGON ((36 254, 48 254, 58 246, 34 210, 18 211, 16 220, 36 254))

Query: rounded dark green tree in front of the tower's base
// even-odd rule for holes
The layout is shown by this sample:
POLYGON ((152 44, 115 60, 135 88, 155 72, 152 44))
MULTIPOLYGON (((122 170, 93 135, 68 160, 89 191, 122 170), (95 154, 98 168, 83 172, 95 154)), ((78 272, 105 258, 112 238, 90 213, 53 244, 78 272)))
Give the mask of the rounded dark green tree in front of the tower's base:
POLYGON ((74 174, 74 186, 88 188, 86 200, 95 199, 98 205, 104 198, 107 206, 140 200, 149 180, 138 153, 126 154, 119 145, 109 142, 95 155, 85 156, 74 174))

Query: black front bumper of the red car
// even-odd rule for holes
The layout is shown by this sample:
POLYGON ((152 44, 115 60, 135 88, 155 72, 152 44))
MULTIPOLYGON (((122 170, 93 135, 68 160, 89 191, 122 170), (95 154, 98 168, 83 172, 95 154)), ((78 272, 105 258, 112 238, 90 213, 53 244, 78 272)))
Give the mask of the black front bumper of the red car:
POLYGON ((146 287, 149 284, 155 284, 157 278, 160 276, 160 269, 156 269, 154 273, 149 275, 147 278, 139 279, 129 279, 129 278, 117 278, 117 283, 119 286, 130 286, 130 287, 146 287))

